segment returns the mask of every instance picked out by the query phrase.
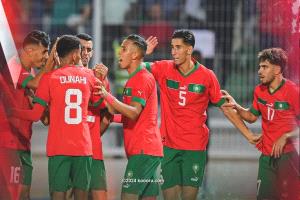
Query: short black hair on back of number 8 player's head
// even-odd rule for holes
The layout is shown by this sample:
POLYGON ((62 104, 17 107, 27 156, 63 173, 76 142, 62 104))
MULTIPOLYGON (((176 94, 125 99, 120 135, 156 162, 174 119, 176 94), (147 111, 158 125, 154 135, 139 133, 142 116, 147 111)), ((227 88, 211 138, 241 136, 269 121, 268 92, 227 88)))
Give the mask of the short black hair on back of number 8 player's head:
POLYGON ((73 35, 61 36, 56 44, 56 51, 60 58, 67 56, 76 49, 80 49, 80 40, 73 35))

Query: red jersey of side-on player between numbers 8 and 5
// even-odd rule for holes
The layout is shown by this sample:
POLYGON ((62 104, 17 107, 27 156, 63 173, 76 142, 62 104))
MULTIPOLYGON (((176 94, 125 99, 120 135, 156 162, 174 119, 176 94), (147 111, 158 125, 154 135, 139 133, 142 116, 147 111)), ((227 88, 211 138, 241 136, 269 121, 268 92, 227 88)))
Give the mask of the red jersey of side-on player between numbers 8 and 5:
POLYGON ((130 74, 123 92, 123 101, 140 103, 143 110, 136 121, 122 117, 127 156, 146 154, 162 156, 162 142, 157 125, 157 91, 153 76, 143 67, 130 74))

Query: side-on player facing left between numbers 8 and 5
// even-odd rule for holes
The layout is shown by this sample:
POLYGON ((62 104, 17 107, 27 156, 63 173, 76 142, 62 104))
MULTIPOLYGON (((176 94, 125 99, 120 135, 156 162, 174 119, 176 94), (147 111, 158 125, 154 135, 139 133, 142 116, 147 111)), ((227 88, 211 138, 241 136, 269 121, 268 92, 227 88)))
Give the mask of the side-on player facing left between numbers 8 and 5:
POLYGON ((123 102, 105 91, 102 96, 122 114, 125 152, 128 163, 122 183, 121 199, 156 199, 162 142, 157 125, 156 83, 143 66, 147 50, 144 38, 129 35, 121 44, 119 64, 126 69, 129 80, 125 84, 123 102))

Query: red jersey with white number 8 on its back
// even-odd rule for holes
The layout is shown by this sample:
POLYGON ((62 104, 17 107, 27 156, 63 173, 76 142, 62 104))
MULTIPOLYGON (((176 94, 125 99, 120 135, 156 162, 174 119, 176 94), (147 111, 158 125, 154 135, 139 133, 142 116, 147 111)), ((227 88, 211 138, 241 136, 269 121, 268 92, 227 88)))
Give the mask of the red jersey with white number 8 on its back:
POLYGON ((50 107, 47 155, 92 155, 87 123, 95 77, 84 67, 64 66, 43 75, 35 102, 50 107))

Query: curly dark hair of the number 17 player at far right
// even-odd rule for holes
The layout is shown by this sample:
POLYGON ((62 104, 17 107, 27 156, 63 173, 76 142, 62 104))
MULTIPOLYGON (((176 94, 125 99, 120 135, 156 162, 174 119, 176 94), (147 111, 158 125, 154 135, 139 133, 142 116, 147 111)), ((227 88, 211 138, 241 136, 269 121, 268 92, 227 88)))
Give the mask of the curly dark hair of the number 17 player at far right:
POLYGON ((269 61, 273 65, 279 65, 281 72, 284 72, 288 62, 286 52, 281 48, 264 49, 258 53, 258 62, 269 61))

